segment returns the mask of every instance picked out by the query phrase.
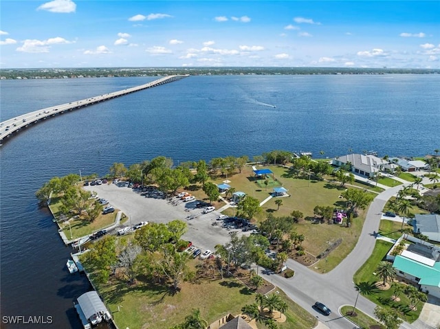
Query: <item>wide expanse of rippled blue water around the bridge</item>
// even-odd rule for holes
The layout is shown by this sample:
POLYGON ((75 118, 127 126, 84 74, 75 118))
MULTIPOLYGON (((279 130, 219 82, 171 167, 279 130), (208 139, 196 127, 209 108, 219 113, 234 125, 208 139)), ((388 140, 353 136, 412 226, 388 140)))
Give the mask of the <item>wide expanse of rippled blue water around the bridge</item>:
MULTIPOLYGON (((2 80, 0 120, 151 80, 2 80)), ((105 174, 113 162, 158 155, 175 163, 274 149, 426 155, 440 148, 439 119, 439 75, 191 76, 32 126, 0 148, 1 315, 80 327, 72 302, 87 282, 67 272, 71 250, 34 198, 50 177, 105 174)))

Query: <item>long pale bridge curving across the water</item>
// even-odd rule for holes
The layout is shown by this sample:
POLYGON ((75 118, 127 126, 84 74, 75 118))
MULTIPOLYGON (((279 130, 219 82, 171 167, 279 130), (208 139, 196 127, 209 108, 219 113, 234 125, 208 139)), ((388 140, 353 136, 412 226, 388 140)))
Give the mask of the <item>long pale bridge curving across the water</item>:
POLYGON ((12 117, 11 119, 0 122, 0 146, 3 141, 7 140, 12 135, 17 135, 22 129, 28 128, 29 126, 37 124, 39 122, 43 122, 47 118, 54 117, 55 115, 63 114, 76 109, 81 109, 85 106, 104 102, 105 100, 111 100, 113 98, 127 95, 129 93, 135 93, 136 91, 157 87, 161 84, 166 84, 168 82, 180 80, 181 78, 186 78, 187 76, 189 76, 189 74, 166 76, 164 78, 160 78, 146 84, 141 84, 137 87, 114 91, 113 93, 105 93, 104 95, 98 95, 95 97, 86 98, 84 100, 77 100, 75 102, 69 102, 66 104, 50 106, 45 109, 19 115, 18 117, 12 117))

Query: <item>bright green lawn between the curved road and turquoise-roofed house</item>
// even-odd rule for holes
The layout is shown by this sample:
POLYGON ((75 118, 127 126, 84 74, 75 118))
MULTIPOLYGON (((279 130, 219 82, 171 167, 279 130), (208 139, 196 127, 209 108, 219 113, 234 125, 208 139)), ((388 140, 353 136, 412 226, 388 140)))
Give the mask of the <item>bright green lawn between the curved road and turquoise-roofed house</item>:
POLYGON ((356 284, 361 284, 369 287, 364 296, 370 299, 373 303, 378 304, 384 308, 393 308, 399 312, 399 315, 405 321, 412 323, 415 321, 423 308, 423 303, 417 304, 417 310, 410 310, 410 300, 404 294, 400 296, 401 301, 395 302, 391 297, 393 296, 393 288, 388 290, 380 290, 375 288, 375 282, 381 281, 380 277, 374 274, 377 265, 385 260, 386 253, 393 245, 390 242, 377 240, 373 253, 361 268, 355 273, 354 281, 356 284))

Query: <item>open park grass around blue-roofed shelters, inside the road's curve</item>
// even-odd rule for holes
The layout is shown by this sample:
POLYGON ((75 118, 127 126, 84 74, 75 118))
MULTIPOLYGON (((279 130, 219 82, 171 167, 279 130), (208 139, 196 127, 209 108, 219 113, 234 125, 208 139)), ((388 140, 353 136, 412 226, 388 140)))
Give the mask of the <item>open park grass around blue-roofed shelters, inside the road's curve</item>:
MULTIPOLYGON (((327 223, 312 224, 310 219, 314 217, 313 209, 316 205, 344 207, 345 201, 343 198, 339 198, 339 196, 347 186, 329 181, 318 181, 313 179, 313 177, 309 183, 308 175, 307 177, 294 178, 287 168, 278 166, 267 166, 265 168, 270 168, 274 172, 275 178, 283 183, 283 187, 288 190, 287 193, 291 194, 291 196, 270 199, 270 201, 263 205, 263 212, 254 216, 256 223, 261 223, 267 218, 268 214, 281 217, 289 216, 293 210, 303 212, 306 219, 300 220, 300 223, 296 225, 296 231, 298 231, 298 234, 304 234, 305 236, 305 241, 303 242, 305 251, 318 256, 329 247, 329 243, 342 238, 341 245, 335 251, 332 251, 327 256, 327 259, 320 260, 318 264, 315 264, 313 269, 320 273, 325 273, 336 267, 347 257, 351 250, 353 250, 356 242, 358 242, 366 212, 360 211, 359 217, 353 218, 350 228, 344 225, 329 225, 327 223), (277 199, 283 201, 279 209, 275 203, 277 199)), ((265 200, 267 196, 270 196, 272 188, 267 188, 267 190, 259 188, 256 183, 248 179, 251 175, 252 168, 245 167, 242 174, 234 174, 232 177, 228 176, 230 180, 228 184, 236 191, 245 192, 259 201, 265 200)), ((220 183, 223 180, 224 178, 218 179, 214 183, 220 183)), ((375 196, 375 194, 372 195, 375 196)), ((223 214, 232 216, 236 214, 236 209, 226 209, 223 214)))

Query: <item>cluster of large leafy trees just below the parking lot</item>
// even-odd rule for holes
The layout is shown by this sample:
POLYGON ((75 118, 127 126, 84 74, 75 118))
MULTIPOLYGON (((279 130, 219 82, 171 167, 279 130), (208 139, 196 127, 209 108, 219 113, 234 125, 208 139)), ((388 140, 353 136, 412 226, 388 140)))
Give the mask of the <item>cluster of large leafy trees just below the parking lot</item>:
POLYGON ((170 283, 173 291, 190 273, 188 241, 181 240, 187 225, 181 220, 167 224, 149 223, 135 231, 135 238, 128 246, 115 244, 114 236, 105 236, 94 243, 85 254, 85 264, 90 266, 98 282, 105 283, 118 271, 119 277, 134 284, 137 277, 159 283, 170 283))

